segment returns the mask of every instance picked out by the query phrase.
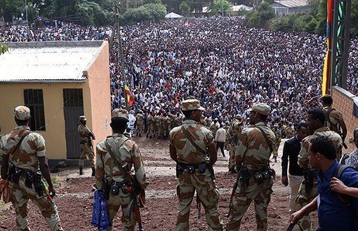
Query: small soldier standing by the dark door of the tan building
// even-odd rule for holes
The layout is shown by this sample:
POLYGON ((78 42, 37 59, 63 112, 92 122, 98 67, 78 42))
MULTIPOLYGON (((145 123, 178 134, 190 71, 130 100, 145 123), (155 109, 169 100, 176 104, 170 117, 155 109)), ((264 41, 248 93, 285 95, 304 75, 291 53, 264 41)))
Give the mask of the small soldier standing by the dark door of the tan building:
POLYGON ((95 140, 95 134, 86 126, 86 116, 80 116, 81 123, 78 128, 79 132, 79 146, 81 148, 81 157, 79 158, 79 174, 84 174, 84 160, 88 157, 91 162, 92 176, 95 176, 95 153, 93 152, 92 140, 95 140))

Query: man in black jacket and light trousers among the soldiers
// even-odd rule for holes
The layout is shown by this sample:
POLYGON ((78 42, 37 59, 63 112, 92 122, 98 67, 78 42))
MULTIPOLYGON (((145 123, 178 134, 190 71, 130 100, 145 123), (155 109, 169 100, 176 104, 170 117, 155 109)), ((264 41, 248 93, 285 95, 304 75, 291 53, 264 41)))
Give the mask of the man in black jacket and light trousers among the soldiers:
POLYGON ((285 186, 290 186, 290 213, 296 211, 295 199, 300 188, 300 183, 303 181, 303 170, 298 166, 298 154, 300 153, 301 142, 308 135, 308 125, 306 123, 299 123, 297 126, 297 133, 295 137, 285 141, 284 151, 282 154, 282 177, 281 181, 285 186), (289 164, 289 177, 287 177, 287 165, 289 164))

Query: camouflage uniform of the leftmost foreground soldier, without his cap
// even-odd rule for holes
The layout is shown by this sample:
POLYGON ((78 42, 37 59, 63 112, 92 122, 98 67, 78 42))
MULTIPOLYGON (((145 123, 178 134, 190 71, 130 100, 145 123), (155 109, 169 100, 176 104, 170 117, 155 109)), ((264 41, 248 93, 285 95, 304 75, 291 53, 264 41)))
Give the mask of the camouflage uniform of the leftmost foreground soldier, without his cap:
MULTIPOLYGON (((9 155, 18 144, 20 137, 29 130, 29 127, 19 126, 15 127, 12 132, 5 134, 0 141, 0 154, 9 155)), ((39 160, 37 157, 44 156, 46 156, 45 140, 41 134, 32 132, 22 141, 18 151, 10 156, 10 161, 23 172, 38 172, 39 160)), ((39 197, 33 187, 27 188, 25 186, 25 174, 20 176, 19 183, 9 181, 9 186, 11 188, 11 202, 16 212, 17 230, 29 230, 27 223, 27 202, 29 200, 32 200, 40 209, 50 230, 63 230, 55 201, 47 195, 47 188, 44 188, 44 196, 39 197)), ((44 187, 46 186, 44 185, 44 187)))

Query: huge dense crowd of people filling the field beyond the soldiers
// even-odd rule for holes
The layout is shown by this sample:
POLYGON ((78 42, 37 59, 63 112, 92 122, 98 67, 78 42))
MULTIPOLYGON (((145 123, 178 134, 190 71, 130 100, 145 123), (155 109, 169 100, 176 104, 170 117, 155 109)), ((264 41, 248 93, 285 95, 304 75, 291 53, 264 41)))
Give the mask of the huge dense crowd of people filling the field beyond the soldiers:
MULTIPOLYGON (((246 28, 239 18, 205 18, 121 27, 126 81, 147 116, 175 115, 187 97, 200 99, 206 115, 219 122, 237 114, 245 121, 254 102, 272 108, 270 123, 298 124, 319 105, 326 52, 324 36, 246 28), (223 32, 225 31, 225 32, 223 32)), ((0 29, 6 42, 109 40, 111 27, 53 22, 46 27, 0 29)), ((358 94, 358 38, 352 38, 348 87, 358 94)), ((115 39, 116 40, 116 39, 115 39)), ((117 43, 110 50, 112 108, 124 106, 117 43)))

